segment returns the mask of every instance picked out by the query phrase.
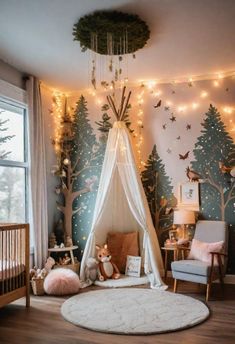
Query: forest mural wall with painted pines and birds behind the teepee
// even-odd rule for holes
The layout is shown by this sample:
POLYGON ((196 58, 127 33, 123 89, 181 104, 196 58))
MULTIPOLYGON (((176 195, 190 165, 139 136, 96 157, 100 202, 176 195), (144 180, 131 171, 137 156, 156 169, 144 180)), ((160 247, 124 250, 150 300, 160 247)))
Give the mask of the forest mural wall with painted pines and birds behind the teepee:
MULTIPOLYGON (((219 84, 215 86, 214 80, 141 84, 133 90, 127 122, 133 147, 139 151, 136 158, 141 159, 138 166, 159 239, 164 241, 168 235, 177 186, 188 180, 190 167, 200 175, 199 218, 229 224, 228 273, 234 274, 235 183, 219 163, 235 165, 235 80, 224 78, 219 84), (140 111, 144 115, 138 124, 140 111)), ((91 226, 108 130, 114 122, 105 101, 107 93, 82 94, 69 97, 76 132, 71 153, 76 166, 73 190, 86 189, 73 202, 73 240, 80 255, 91 226)))

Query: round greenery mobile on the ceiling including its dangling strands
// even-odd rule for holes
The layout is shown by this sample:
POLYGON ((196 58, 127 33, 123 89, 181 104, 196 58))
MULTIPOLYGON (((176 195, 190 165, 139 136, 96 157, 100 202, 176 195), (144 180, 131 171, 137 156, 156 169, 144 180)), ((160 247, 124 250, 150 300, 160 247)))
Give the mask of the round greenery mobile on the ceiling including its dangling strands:
MULTIPOLYGON (((115 88, 116 82, 128 74, 128 55, 143 48, 149 37, 150 31, 147 24, 137 15, 118 11, 96 11, 78 20, 73 26, 75 41, 80 42, 82 51, 87 49, 92 52, 91 83, 97 87, 98 60, 102 56, 108 57, 108 71, 111 79, 106 76, 100 80, 104 88, 115 88), (125 63, 126 62, 126 63, 125 63)), ((103 66, 104 62, 100 62, 103 66)))

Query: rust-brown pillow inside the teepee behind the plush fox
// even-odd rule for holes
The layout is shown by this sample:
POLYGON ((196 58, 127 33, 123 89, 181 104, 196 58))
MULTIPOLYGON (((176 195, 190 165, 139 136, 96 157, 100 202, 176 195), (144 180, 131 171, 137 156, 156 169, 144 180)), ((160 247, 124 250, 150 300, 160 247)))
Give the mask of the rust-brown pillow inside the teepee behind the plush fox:
POLYGON ((107 245, 112 261, 121 273, 125 273, 127 255, 139 255, 138 232, 110 232, 107 236, 107 245))

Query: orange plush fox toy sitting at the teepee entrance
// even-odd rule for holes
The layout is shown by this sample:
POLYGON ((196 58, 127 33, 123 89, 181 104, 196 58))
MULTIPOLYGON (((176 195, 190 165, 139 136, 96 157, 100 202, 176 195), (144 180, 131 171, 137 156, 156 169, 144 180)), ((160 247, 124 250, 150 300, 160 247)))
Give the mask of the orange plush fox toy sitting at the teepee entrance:
POLYGON ((108 246, 105 244, 104 247, 96 245, 97 258, 99 261, 98 265, 98 277, 100 281, 105 281, 108 278, 118 279, 120 278, 120 272, 111 261, 112 256, 108 250, 108 246))

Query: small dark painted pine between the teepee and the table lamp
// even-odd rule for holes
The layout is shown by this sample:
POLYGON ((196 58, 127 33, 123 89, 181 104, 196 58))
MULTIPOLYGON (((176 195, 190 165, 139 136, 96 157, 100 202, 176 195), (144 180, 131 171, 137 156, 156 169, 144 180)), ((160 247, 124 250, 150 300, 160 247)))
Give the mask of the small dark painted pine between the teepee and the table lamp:
POLYGON ((145 163, 145 170, 141 179, 148 200, 153 224, 159 238, 164 240, 163 233, 167 233, 172 225, 171 208, 176 205, 170 178, 166 175, 165 166, 160 159, 156 145, 145 163))

